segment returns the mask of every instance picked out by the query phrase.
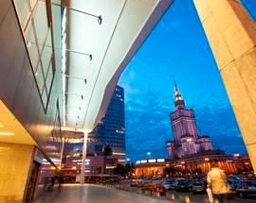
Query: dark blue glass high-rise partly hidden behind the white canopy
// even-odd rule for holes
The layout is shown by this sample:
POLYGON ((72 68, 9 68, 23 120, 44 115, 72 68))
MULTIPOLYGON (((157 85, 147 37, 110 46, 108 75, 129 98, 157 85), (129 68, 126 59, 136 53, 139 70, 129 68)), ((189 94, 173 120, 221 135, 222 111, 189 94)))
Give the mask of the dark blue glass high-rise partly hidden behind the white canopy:
POLYGON ((124 90, 117 86, 104 117, 88 135, 87 154, 101 154, 109 146, 119 163, 125 162, 124 90))

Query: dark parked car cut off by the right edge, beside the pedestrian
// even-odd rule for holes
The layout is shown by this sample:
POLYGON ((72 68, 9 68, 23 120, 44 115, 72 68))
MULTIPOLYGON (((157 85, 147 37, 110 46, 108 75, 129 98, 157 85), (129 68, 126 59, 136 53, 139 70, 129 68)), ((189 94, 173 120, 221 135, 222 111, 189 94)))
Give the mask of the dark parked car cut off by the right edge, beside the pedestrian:
POLYGON ((246 179, 240 181, 237 186, 236 192, 242 198, 246 196, 256 196, 256 180, 246 179))

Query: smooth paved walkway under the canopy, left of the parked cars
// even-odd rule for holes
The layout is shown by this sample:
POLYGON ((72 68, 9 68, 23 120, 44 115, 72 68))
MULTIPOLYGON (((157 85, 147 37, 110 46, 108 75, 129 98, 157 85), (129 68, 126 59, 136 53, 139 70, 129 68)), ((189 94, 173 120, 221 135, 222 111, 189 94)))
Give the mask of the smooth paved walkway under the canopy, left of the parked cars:
POLYGON ((98 185, 66 184, 42 195, 36 203, 170 203, 165 197, 151 197, 98 185))

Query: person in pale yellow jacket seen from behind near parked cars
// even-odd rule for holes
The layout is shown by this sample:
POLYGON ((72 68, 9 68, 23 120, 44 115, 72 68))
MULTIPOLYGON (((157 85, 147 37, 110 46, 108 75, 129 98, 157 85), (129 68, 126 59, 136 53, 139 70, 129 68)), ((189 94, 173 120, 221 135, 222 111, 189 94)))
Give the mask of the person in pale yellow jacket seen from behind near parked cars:
POLYGON ((211 170, 207 175, 208 188, 213 195, 214 203, 228 203, 228 195, 230 193, 227 176, 222 169, 219 168, 218 162, 211 163, 211 170))

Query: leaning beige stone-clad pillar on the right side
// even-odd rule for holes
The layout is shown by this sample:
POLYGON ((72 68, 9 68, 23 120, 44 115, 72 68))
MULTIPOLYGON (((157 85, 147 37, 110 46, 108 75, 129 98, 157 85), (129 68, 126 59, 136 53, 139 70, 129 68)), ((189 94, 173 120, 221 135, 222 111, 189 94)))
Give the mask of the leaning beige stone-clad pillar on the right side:
POLYGON ((256 171, 256 24, 239 0, 193 0, 256 171))

